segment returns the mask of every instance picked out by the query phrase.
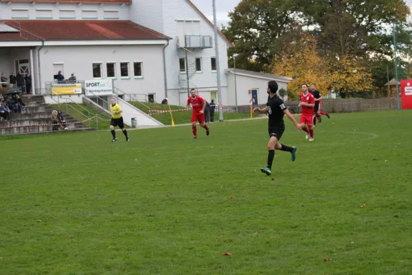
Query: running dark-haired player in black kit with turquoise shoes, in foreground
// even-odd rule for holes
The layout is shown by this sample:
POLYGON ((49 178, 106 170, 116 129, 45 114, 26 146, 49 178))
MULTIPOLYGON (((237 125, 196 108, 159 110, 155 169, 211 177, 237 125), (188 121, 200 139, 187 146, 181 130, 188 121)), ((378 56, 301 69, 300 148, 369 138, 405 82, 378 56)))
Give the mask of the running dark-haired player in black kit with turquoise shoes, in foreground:
POLYGON ((262 173, 266 175, 271 175, 273 157, 275 157, 275 150, 290 152, 292 155, 292 161, 296 159, 296 147, 289 147, 284 144, 280 144, 279 140, 282 137, 285 131, 285 122, 284 115, 286 115, 292 122, 295 124, 296 129, 301 129, 301 124, 298 124, 293 118, 293 115, 288 110, 288 107, 285 106, 283 100, 277 96, 277 83, 276 81, 268 82, 269 94, 268 102, 264 109, 255 108, 253 113, 268 113, 269 115, 269 143, 268 143, 268 166, 266 168, 260 169, 262 173))

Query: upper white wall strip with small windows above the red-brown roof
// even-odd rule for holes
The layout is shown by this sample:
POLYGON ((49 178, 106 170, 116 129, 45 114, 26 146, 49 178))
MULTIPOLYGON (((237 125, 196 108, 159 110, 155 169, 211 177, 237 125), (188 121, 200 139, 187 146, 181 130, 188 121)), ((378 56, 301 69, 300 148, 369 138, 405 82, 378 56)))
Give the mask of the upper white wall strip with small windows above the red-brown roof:
POLYGON ((10 5, 7 3, 0 3, 0 19, 3 20, 21 20, 21 19, 38 19, 38 20, 53 20, 60 19, 60 10, 75 10, 76 18, 73 19, 62 19, 62 20, 84 20, 82 18, 82 10, 97 10, 98 20, 104 20, 104 10, 118 10, 119 19, 117 20, 128 20, 128 6, 124 5, 122 8, 121 4, 118 3, 104 3, 100 4, 82 4, 78 6, 77 3, 60 3, 55 5, 54 3, 15 3, 12 2, 10 5), (28 17, 26 18, 13 18, 12 9, 28 9, 28 17), (52 18, 38 18, 39 14, 36 10, 52 10, 52 18))

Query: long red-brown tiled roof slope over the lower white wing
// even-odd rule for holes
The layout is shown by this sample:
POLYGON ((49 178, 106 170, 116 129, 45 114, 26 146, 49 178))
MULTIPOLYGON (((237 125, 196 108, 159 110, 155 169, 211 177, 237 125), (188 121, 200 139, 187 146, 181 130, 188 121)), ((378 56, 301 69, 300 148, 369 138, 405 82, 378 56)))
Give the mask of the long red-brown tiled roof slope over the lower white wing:
POLYGON ((0 41, 166 40, 165 36, 132 21, 3 20, 19 32, 0 32, 0 41))

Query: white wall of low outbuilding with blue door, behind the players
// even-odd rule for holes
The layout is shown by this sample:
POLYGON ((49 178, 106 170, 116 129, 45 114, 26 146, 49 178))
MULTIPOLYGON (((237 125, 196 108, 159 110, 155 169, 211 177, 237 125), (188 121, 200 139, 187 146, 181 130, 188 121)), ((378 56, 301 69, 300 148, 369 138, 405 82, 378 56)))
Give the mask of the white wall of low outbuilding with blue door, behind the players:
MULTIPOLYGON (((228 103, 229 105, 235 105, 235 76, 234 74, 228 74, 229 89, 228 89, 228 103)), ((258 104, 266 104, 268 99, 267 87, 268 79, 254 78, 252 76, 241 76, 236 74, 236 85, 238 90, 238 105, 248 105, 252 95, 249 93, 249 89, 259 89, 258 91, 258 104)), ((282 80, 276 80, 279 89, 287 90, 288 83, 282 80)), ((279 91, 278 89, 278 91, 279 91)), ((278 94, 279 95, 279 94, 278 94)), ((286 97, 285 97, 286 99, 286 97)))

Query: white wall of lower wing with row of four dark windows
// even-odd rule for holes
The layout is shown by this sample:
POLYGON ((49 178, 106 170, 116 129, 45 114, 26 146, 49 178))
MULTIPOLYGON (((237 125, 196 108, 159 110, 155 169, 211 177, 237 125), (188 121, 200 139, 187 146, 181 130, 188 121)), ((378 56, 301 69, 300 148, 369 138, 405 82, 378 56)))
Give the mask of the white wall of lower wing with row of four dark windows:
POLYGON ((107 79, 106 63, 116 63, 115 87, 126 94, 155 93, 164 98, 163 45, 46 46, 41 49, 41 85, 53 81, 53 63, 64 63, 64 76, 74 73, 78 80, 93 79, 93 63, 102 63, 102 78, 107 79), (130 78, 120 77, 120 62, 128 61, 130 78), (133 76, 133 61, 143 62, 143 78, 133 76))

